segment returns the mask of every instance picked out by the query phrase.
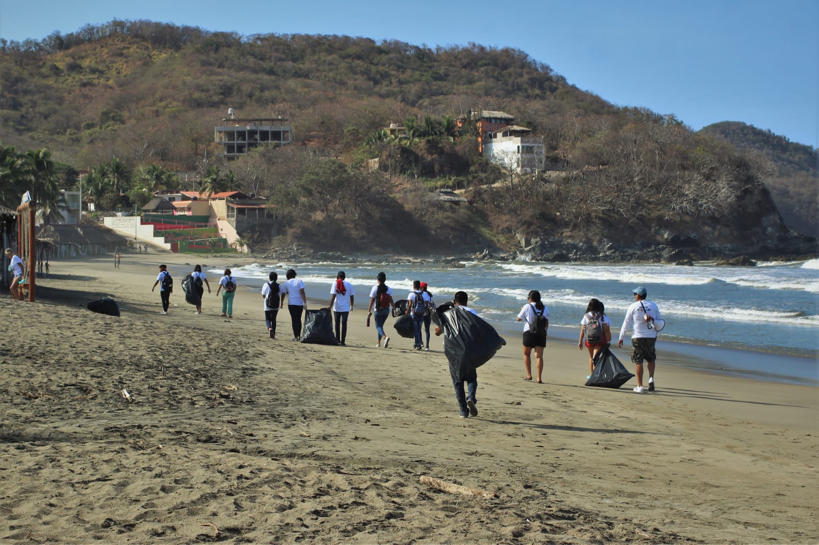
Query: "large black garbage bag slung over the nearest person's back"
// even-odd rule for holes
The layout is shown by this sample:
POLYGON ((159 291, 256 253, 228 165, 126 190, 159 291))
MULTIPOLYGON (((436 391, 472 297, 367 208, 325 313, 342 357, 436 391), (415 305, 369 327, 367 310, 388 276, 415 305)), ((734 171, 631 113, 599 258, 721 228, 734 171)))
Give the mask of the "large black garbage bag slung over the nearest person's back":
POLYGON ((444 354, 450 371, 463 380, 467 373, 488 362, 506 341, 483 318, 451 304, 432 313, 444 331, 444 354))

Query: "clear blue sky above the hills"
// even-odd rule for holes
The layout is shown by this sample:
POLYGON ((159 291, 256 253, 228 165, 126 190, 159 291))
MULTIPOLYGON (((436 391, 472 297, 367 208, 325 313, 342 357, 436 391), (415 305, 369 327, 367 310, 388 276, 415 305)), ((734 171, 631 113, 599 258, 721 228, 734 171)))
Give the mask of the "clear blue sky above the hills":
POLYGON ((817 0, 0 0, 0 37, 41 39, 115 18, 244 35, 515 47, 617 105, 674 114, 695 130, 742 121, 817 146, 817 0))

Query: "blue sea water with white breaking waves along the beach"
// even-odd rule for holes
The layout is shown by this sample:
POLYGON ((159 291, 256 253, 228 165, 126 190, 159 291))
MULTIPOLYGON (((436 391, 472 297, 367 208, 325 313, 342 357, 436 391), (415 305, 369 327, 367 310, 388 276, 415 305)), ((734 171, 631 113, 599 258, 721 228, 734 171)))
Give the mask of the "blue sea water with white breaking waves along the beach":
MULTIPOLYGON (((305 282, 309 300, 327 303, 337 272, 345 271, 360 298, 357 309, 366 309, 380 271, 387 274, 396 299, 409 295, 414 280, 428 283, 437 304, 463 290, 469 305, 483 318, 515 335, 522 331, 517 314, 527 303, 528 292, 537 290, 550 310, 550 338, 575 343, 590 298, 605 304, 616 340, 625 311, 634 302, 631 291, 644 286, 666 320, 659 334, 661 346, 684 353, 703 367, 819 385, 819 259, 756 267, 498 261, 464 261, 458 268, 389 262, 254 263, 232 272, 239 284, 260 290, 269 272, 278 272, 283 282, 288 268, 296 269, 305 282)), ((221 270, 210 273, 221 276, 221 270)))

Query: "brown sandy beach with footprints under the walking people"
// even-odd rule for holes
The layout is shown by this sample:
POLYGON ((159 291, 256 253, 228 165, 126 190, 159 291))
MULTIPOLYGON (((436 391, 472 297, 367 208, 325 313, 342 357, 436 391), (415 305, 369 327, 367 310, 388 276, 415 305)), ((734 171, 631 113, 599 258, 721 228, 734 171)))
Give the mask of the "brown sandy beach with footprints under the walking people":
POLYGON ((36 303, 2 295, 2 543, 819 541, 817 388, 663 366, 661 345, 654 394, 588 388, 585 349, 553 342, 539 385, 518 335, 460 419, 441 339, 375 349, 365 297, 346 347, 290 341, 287 311, 269 339, 261 282, 230 320, 184 302, 194 263, 248 262, 55 261, 36 303))

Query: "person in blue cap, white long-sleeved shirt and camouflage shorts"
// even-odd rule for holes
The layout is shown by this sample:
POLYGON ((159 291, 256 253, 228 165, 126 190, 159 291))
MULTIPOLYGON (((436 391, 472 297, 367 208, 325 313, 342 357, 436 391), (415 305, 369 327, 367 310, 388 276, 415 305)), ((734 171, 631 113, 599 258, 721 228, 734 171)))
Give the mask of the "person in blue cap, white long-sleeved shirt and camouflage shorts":
POLYGON ((654 345, 657 343, 657 330, 654 329, 653 322, 662 318, 660 318, 657 305, 645 299, 649 294, 643 286, 637 286, 631 293, 634 294, 634 303, 626 311, 617 345, 618 348, 622 348, 622 339, 626 336, 626 331, 634 327, 631 335, 631 361, 636 366, 637 375, 637 385, 634 391, 642 394, 645 391, 643 389, 644 361, 649 364, 649 392, 654 391, 654 364, 657 361, 654 345))

